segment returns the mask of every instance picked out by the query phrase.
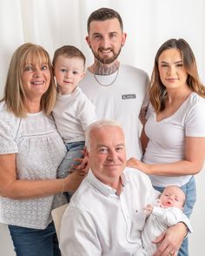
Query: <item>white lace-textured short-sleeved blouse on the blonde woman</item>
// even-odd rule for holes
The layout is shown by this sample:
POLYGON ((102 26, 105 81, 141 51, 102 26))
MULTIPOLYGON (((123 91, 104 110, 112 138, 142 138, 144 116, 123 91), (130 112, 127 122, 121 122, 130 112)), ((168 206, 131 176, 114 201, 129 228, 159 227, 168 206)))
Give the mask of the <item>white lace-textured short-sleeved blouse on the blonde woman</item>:
MULTIPOLYGON (((66 152, 53 120, 43 112, 16 118, 0 106, 0 154, 16 153, 17 179, 56 179, 66 152)), ((54 196, 38 199, 0 197, 0 222, 44 229, 50 223, 54 196)), ((58 198, 58 204, 64 199, 58 198)))

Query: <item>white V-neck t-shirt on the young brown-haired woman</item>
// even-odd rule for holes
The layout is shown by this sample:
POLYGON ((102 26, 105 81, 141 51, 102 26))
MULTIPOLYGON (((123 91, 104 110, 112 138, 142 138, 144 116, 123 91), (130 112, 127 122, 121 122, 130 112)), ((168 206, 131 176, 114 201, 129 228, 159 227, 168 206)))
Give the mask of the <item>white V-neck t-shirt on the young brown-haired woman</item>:
MULTIPOLYGON (((156 121, 153 107, 149 104, 145 133, 149 144, 143 162, 167 164, 185 158, 185 137, 205 137, 205 98, 192 92, 175 113, 162 121, 156 121)), ((191 175, 168 177, 149 175, 156 186, 179 185, 188 182, 191 175)))

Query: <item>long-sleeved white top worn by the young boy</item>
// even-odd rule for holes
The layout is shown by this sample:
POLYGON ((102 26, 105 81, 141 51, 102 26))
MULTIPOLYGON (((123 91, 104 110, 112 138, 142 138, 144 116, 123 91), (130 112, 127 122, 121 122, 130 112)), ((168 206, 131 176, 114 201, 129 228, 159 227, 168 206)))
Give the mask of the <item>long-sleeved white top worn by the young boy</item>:
POLYGON ((95 105, 78 87, 68 95, 57 95, 53 117, 64 142, 85 140, 85 128, 96 121, 95 109, 95 105))

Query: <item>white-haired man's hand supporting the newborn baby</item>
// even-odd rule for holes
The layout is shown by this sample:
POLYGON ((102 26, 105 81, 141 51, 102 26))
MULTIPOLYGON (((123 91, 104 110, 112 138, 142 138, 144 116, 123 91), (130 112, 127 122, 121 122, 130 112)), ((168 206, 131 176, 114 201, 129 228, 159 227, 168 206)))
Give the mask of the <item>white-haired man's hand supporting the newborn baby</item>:
POLYGON ((168 228, 166 232, 153 241, 157 246, 153 256, 177 255, 184 237, 187 235, 187 226, 182 222, 168 228))

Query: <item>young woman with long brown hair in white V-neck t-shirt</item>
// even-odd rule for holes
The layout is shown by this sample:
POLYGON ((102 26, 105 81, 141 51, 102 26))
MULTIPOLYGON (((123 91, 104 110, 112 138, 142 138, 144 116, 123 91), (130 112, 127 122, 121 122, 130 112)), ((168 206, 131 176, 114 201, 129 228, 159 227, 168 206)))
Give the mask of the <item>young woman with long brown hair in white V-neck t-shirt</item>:
MULTIPOLYGON (((179 185, 186 194, 184 213, 195 205, 194 174, 205 158, 205 87, 195 56, 184 39, 170 39, 157 51, 151 78, 147 122, 142 131, 143 163, 128 165, 149 174, 155 189, 179 185)), ((188 255, 185 242, 178 255, 188 255)))

